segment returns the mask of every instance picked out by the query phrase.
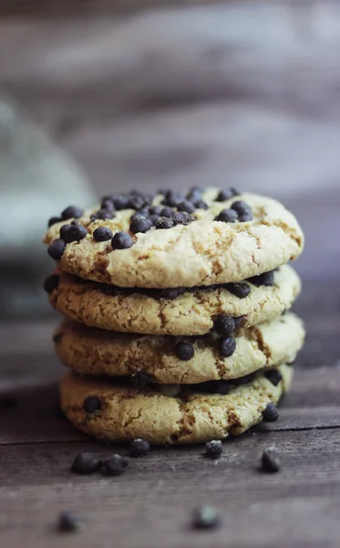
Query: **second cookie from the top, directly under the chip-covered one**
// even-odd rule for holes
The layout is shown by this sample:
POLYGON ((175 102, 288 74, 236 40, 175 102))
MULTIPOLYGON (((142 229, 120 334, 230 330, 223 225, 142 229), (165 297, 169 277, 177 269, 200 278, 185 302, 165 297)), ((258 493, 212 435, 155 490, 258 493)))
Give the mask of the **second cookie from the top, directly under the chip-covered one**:
POLYGON ((155 335, 203 335, 221 314, 242 316, 242 325, 250 327, 289 309, 301 290, 298 275, 288 265, 273 272, 273 285, 254 285, 255 280, 242 283, 243 292, 249 291, 242 298, 235 294, 234 284, 186 290, 171 300, 160 297, 166 291, 117 291, 62 272, 57 282, 55 276, 50 280, 46 283, 49 300, 67 318, 110 331, 155 335))

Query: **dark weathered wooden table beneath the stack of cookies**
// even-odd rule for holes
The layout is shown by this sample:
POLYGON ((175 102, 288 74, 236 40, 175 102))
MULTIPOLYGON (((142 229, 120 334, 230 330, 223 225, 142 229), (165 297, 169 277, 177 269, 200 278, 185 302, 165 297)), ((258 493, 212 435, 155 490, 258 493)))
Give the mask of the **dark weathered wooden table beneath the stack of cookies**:
POLYGON ((1 326, 0 390, 18 398, 16 408, 0 408, 1 546, 338 547, 339 305, 337 284, 305 284, 295 310, 308 340, 278 422, 227 440, 217 462, 202 447, 155 449, 108 479, 69 470, 80 450, 126 449, 92 442, 57 416, 53 321, 1 326), (258 458, 269 446, 282 470, 264 475, 258 458), (192 531, 191 511, 206 503, 221 511, 222 527, 192 531), (83 532, 56 531, 66 509, 88 521, 83 532))

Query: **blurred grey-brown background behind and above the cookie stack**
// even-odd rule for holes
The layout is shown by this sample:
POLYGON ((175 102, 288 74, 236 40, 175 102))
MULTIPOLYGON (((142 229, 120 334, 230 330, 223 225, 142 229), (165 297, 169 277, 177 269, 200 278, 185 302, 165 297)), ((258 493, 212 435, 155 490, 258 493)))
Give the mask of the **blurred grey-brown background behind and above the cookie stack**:
POLYGON ((339 64, 336 1, 0 3, 2 319, 52 313, 47 218, 129 187, 278 197, 339 279, 339 64))

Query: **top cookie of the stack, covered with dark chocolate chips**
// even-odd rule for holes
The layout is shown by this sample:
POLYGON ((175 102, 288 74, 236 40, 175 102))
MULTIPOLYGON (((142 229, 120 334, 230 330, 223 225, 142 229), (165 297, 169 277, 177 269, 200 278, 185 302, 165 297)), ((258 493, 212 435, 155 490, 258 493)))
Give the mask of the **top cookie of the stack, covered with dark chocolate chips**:
POLYGON ((45 241, 61 269, 121 287, 240 281, 297 258, 304 247, 283 205, 232 189, 111 196, 101 209, 68 207, 50 225, 45 241))

